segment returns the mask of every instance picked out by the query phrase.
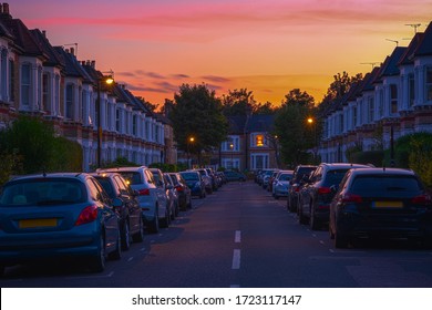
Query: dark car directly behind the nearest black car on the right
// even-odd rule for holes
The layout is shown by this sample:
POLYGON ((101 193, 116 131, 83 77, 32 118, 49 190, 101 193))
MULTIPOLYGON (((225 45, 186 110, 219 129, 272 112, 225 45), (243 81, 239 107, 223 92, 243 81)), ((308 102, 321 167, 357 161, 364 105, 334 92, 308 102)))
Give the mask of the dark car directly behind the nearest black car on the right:
POLYGON ((329 223, 330 202, 335 196, 331 186, 338 186, 344 174, 352 168, 369 168, 367 165, 333 163, 320 164, 299 193, 299 221, 309 224, 312 230, 329 223))

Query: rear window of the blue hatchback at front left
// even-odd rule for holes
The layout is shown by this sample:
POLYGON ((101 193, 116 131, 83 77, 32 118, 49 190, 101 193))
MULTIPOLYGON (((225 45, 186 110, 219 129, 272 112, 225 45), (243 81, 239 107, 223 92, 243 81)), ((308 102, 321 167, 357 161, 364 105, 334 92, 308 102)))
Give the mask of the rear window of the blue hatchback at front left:
POLYGON ((32 178, 4 185, 0 205, 61 205, 85 202, 84 185, 72 178, 32 178))

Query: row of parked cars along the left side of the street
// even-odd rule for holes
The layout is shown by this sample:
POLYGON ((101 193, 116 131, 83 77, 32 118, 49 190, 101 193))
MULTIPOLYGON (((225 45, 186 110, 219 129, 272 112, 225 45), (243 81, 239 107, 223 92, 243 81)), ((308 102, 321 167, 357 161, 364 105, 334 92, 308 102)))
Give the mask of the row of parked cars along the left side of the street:
POLYGON ((145 230, 168 227, 192 208, 193 196, 204 198, 225 182, 212 169, 146 166, 13 177, 0 194, 0 275, 10 265, 59 259, 102 271, 145 230))

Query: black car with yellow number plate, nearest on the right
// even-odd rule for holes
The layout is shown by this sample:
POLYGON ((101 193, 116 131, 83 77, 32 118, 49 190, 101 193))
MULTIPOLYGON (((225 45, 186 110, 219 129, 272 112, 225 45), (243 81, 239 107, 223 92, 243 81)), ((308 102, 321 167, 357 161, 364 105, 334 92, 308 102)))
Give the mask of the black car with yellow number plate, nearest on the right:
POLYGON ((337 248, 354 238, 405 238, 432 246, 432 199, 412 170, 351 169, 330 205, 337 248))

